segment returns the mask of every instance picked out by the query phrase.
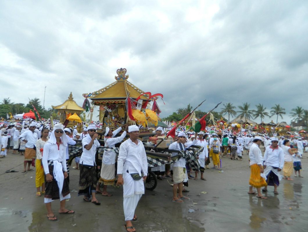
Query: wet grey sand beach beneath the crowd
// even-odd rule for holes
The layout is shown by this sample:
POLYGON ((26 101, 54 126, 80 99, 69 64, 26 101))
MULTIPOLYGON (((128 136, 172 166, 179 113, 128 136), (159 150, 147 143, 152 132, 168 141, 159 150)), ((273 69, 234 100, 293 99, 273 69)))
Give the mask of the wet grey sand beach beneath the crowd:
MULTIPOLYGON (((246 151, 243 161, 222 158, 223 172, 206 169, 207 181, 200 180, 200 175, 198 180, 190 179, 185 193, 190 200, 182 204, 171 201, 171 178, 167 178, 169 183, 158 180, 156 189, 146 191, 138 203, 138 220, 133 224, 136 231, 147 232, 307 231, 307 156, 304 153, 301 159, 304 178, 282 179, 279 195, 269 186, 267 200, 247 194, 250 170, 246 151)), ((58 221, 48 221, 43 195, 35 197, 35 170, 21 173, 23 160, 11 151, 0 159, 1 231, 125 231, 122 187, 108 187, 111 197, 98 194, 100 206, 84 202, 82 196, 77 197, 79 170, 71 168, 74 161, 70 167, 71 199, 66 207, 75 214, 59 214, 59 200, 55 200, 52 209, 58 221)))

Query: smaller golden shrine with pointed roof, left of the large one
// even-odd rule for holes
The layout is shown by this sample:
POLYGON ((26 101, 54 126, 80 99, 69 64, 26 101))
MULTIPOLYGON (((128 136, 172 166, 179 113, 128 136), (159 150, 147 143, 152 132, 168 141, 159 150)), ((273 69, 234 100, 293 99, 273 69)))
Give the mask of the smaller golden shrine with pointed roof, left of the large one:
MULTIPOLYGON (((67 100, 63 102, 61 105, 57 106, 51 106, 53 109, 58 110, 58 113, 60 115, 60 123, 64 123, 64 121, 67 118, 67 115, 69 113, 74 114, 76 113, 78 116, 84 111, 82 107, 77 105, 77 103, 74 101, 72 92, 68 96, 67 100)), ((70 122, 67 127, 72 126, 73 124, 70 122), (70 125, 71 124, 71 125, 70 125)))

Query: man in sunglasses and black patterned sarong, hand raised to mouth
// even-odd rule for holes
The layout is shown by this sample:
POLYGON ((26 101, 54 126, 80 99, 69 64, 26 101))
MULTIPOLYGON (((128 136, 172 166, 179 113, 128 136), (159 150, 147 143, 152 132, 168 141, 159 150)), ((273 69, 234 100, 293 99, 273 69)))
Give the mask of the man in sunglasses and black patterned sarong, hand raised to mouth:
POLYGON ((95 163, 96 148, 100 146, 97 140, 98 134, 96 134, 95 125, 88 126, 89 136, 86 136, 82 140, 82 155, 79 161, 79 191, 78 196, 84 195, 83 200, 91 202, 95 205, 100 205, 100 202, 96 199, 96 184, 97 184, 97 173, 95 163))

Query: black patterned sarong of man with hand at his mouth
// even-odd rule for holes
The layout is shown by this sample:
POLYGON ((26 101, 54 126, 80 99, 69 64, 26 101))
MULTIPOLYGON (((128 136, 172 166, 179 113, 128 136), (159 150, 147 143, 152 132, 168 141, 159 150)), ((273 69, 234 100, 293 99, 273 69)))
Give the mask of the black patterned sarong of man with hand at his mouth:
POLYGON ((96 167, 79 163, 79 191, 78 196, 86 195, 90 199, 92 192, 96 192, 96 167))

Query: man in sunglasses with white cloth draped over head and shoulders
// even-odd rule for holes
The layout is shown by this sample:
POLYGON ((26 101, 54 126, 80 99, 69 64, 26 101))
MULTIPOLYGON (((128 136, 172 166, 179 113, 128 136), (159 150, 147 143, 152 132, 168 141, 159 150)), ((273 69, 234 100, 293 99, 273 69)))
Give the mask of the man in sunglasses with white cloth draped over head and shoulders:
POLYGON ((63 125, 56 124, 51 132, 48 142, 43 148, 43 167, 46 174, 46 189, 44 202, 47 207, 47 218, 55 221, 57 218, 51 210, 51 202, 60 199, 60 214, 73 214, 73 210, 65 208, 65 199, 71 198, 66 178, 67 167, 65 150, 67 137, 63 132, 63 125))

